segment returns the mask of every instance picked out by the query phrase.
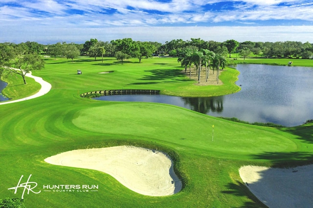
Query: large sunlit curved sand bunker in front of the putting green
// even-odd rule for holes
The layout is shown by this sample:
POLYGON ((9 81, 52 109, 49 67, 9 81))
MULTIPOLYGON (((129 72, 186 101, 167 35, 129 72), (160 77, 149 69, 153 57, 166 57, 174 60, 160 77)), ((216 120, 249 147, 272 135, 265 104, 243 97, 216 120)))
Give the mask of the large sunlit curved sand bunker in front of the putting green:
POLYGON ((169 156, 134 146, 78 149, 51 156, 45 162, 88 168, 110 174, 129 189, 149 196, 166 196, 181 189, 169 156))

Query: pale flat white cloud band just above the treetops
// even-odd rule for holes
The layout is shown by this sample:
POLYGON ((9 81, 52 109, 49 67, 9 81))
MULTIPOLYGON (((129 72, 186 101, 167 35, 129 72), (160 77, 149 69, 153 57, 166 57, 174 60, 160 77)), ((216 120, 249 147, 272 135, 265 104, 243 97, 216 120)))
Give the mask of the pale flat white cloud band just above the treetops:
POLYGON ((101 41, 111 41, 122 38, 132 38, 135 41, 166 42, 173 39, 190 40, 201 38, 206 41, 224 42, 234 39, 239 42, 276 42, 300 41, 313 42, 312 26, 218 26, 218 27, 48 27, 41 26, 28 30, 19 28, 16 31, 2 34, 0 42, 26 42, 35 41, 43 44, 56 42, 84 43, 90 38, 101 41), (309 35, 308 35, 309 34, 309 35))

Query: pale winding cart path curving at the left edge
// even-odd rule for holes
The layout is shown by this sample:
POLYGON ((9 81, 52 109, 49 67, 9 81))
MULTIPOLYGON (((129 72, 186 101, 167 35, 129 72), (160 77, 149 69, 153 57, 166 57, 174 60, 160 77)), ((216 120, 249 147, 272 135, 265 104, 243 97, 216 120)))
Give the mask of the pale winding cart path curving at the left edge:
POLYGON ((29 96, 29 97, 22 98, 22 99, 19 99, 19 100, 14 100, 14 101, 2 101, 2 102, 0 102, 0 105, 1 105, 1 104, 17 103, 17 102, 21 102, 21 101, 30 100, 30 99, 33 99, 33 98, 38 98, 38 97, 40 97, 40 96, 45 95, 46 93, 48 93, 48 92, 50 91, 50 89, 51 89, 51 84, 48 83, 48 82, 45 82, 45 81, 43 80, 43 78, 33 76, 33 75, 31 74, 31 72, 27 73, 25 76, 26 76, 26 77, 33 78, 37 83, 40 83, 40 84, 41 84, 41 89, 39 90, 39 92, 37 92, 37 93, 34 94, 34 95, 31 95, 31 96, 29 96))

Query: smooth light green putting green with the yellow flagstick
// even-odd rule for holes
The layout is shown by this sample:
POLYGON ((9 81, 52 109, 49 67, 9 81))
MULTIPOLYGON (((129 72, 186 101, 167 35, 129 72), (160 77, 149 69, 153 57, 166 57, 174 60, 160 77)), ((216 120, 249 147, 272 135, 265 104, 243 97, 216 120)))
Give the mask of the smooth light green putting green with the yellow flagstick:
POLYGON ((118 134, 124 138, 136 136, 155 141, 159 135, 157 140, 162 144, 228 152, 224 157, 230 158, 238 154, 294 151, 297 148, 290 139, 267 131, 267 128, 250 125, 239 128, 239 124, 167 104, 132 102, 90 107, 79 110, 72 122, 89 132, 118 134), (213 141, 212 125, 215 125, 213 141))

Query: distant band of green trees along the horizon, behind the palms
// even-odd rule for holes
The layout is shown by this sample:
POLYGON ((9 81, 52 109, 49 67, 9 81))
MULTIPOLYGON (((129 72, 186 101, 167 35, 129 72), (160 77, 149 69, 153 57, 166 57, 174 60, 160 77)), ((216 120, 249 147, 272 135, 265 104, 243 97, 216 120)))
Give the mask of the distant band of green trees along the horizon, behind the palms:
MULTIPOLYGON (((183 41, 181 39, 165 42, 140 42, 133 41, 131 38, 112 40, 111 42, 98 41, 90 39, 85 43, 67 43, 57 42, 55 44, 40 44, 38 42, 22 42, 19 44, 4 42, 0 44, 12 47, 19 46, 27 53, 46 54, 52 57, 63 56, 68 59, 72 57, 88 55, 90 57, 114 56, 117 51, 121 51, 131 57, 139 59, 149 58, 153 55, 168 54, 172 57, 178 57, 179 52, 185 47, 192 47, 197 50, 208 49, 217 54, 231 53, 254 54, 263 57, 302 57, 310 58, 313 55, 313 43, 310 42, 237 42, 235 40, 227 40, 225 42, 204 41, 200 38, 191 38, 191 40, 183 41), (249 52, 249 53, 247 53, 249 52)), ((246 56, 245 56, 246 57, 246 56)))

